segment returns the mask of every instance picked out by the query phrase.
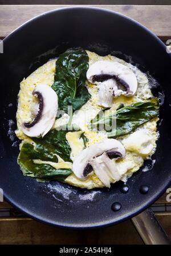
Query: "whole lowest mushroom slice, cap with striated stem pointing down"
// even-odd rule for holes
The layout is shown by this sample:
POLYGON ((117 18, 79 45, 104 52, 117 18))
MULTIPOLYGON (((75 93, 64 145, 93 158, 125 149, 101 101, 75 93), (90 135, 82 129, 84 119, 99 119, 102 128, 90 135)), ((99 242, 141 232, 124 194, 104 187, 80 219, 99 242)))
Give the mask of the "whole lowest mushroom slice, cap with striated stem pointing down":
POLYGON ((86 179, 88 173, 95 171, 97 177, 109 186, 110 180, 119 180, 115 163, 110 158, 124 158, 124 146, 116 139, 105 139, 84 149, 76 156, 72 170, 79 179, 86 179), (104 154, 105 153, 105 154, 104 154), (103 165, 100 163, 103 162, 103 165))

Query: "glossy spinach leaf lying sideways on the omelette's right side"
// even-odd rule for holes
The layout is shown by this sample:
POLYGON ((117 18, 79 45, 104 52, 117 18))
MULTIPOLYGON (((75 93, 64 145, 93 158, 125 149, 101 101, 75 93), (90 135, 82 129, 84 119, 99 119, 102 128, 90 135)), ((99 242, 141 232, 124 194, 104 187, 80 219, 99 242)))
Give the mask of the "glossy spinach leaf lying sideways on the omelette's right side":
POLYGON ((108 137, 118 137, 135 131, 137 127, 159 114, 158 99, 151 98, 144 102, 133 103, 132 105, 121 107, 116 111, 111 111, 108 115, 97 115, 91 121, 91 129, 99 130, 104 127, 108 137), (116 126, 112 127, 112 122, 116 126), (111 129, 111 130, 110 130, 111 129))

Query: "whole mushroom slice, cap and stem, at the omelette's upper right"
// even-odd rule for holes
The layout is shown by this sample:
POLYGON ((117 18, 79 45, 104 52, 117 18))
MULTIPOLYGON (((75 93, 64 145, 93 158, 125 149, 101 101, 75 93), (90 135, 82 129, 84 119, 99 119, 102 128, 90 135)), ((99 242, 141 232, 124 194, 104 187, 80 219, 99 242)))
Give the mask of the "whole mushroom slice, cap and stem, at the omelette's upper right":
POLYGON ((127 66, 112 61, 97 61, 87 71, 87 79, 99 86, 99 105, 111 107, 111 95, 131 97, 137 90, 136 75, 127 66), (104 95, 103 100, 101 95, 104 95))

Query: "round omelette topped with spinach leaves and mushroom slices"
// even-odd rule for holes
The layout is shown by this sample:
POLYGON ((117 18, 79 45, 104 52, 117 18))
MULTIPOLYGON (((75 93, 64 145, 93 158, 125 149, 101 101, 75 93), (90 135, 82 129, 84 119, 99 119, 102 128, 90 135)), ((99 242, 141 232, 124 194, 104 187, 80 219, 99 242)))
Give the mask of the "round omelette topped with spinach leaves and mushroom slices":
POLYGON ((158 106, 148 105, 154 99, 151 85, 136 66, 113 55, 84 52, 75 72, 83 67, 82 60, 84 64, 87 60, 83 68, 85 84, 80 72, 81 92, 72 94, 72 100, 61 89, 61 83, 68 79, 70 86, 71 79, 67 76, 68 69, 62 70, 64 62, 58 58, 50 59, 21 82, 15 131, 22 141, 18 163, 24 175, 38 181, 62 181, 84 189, 110 187, 120 180, 127 182, 145 159, 154 154, 159 136, 158 106), (72 115, 66 111, 66 99, 73 106, 72 115), (143 118, 136 114, 137 109, 143 118), (100 130, 99 126, 92 129, 100 111, 106 112, 110 120, 115 117, 115 132, 100 130), (152 114, 147 116, 149 111, 152 114), (136 125, 132 116, 135 114, 139 118, 136 125), (67 127, 68 123, 76 128, 66 129, 59 137, 61 127, 67 127), (36 175, 38 170, 41 175, 36 175))

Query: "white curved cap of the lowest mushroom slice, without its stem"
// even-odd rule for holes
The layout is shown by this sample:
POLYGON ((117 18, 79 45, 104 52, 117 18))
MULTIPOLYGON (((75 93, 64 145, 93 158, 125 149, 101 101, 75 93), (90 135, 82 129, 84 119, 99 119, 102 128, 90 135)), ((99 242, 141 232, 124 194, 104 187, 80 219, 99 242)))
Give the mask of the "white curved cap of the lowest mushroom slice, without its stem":
POLYGON ((104 152, 118 152, 123 158, 125 157, 125 148, 116 139, 105 139, 104 141, 97 142, 87 147, 76 156, 72 165, 72 170, 76 177, 79 179, 86 179, 84 176, 84 169, 86 169, 88 163, 91 164, 93 158, 98 157, 104 152))

